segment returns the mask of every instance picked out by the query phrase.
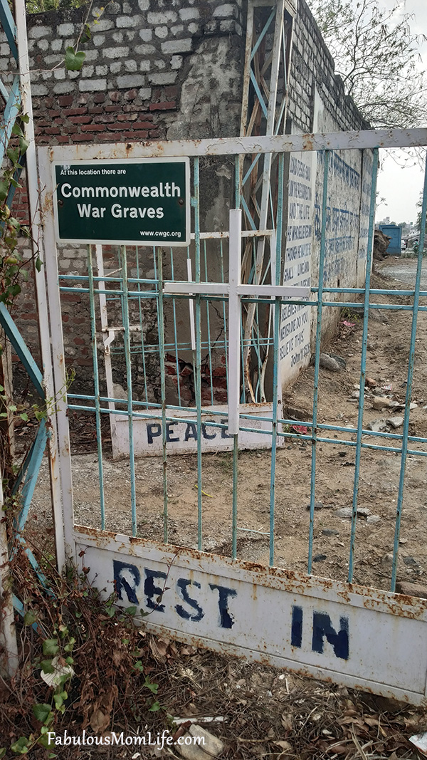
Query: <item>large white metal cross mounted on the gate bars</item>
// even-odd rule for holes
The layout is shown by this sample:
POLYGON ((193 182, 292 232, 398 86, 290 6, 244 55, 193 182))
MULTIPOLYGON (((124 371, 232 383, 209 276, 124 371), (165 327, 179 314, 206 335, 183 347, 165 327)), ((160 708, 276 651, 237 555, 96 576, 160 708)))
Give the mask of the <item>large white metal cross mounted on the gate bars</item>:
MULTIPOLYGON (((164 283, 163 293, 194 296, 200 293, 204 296, 227 296, 229 300, 229 349, 228 349, 228 432, 229 435, 239 433, 239 404, 240 404, 240 299, 242 296, 252 298, 280 296, 286 299, 308 298, 309 287, 295 285, 248 285, 242 284, 240 262, 242 256, 242 211, 233 208, 229 212, 229 282, 228 283, 194 283, 172 282, 164 283)), ((191 269, 188 268, 191 278, 191 269)), ((192 321, 194 331, 194 317, 192 321)), ((192 341, 193 342, 193 341, 192 341)))

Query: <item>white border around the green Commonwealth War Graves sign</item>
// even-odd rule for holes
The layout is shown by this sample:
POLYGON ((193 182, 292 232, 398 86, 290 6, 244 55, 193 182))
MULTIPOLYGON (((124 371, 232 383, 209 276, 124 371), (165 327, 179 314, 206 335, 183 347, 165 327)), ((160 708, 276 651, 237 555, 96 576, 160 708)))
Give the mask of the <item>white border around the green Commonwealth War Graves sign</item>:
MULTIPOLYGON (((190 195, 190 160, 187 156, 185 157, 165 157, 165 158, 128 158, 128 159, 120 159, 120 158, 103 158, 98 160, 71 160, 71 161, 52 161, 52 187, 53 187, 53 194, 52 194, 52 201, 53 201, 53 213, 55 218, 55 237, 57 242, 60 243, 83 243, 83 244, 101 244, 101 245, 149 245, 150 247, 157 245, 167 245, 175 247, 184 247, 190 245, 191 242, 191 195, 190 195), (112 166, 116 164, 117 166, 122 166, 123 164, 137 164, 137 165, 144 165, 147 163, 151 164, 170 164, 170 163, 181 163, 184 164, 185 169, 185 239, 176 239, 175 237, 169 236, 169 238, 164 237, 163 235, 160 237, 153 236, 151 238, 139 238, 139 239, 124 239, 123 236, 121 236, 118 233, 117 237, 109 236, 108 238, 94 238, 94 237, 65 237, 61 236, 60 234, 60 225, 59 225, 59 213, 58 213, 58 204, 59 204, 59 198, 57 193, 58 188, 58 182, 56 178, 56 167, 57 166, 63 166, 67 168, 71 167, 78 167, 78 166, 96 166, 99 169, 102 169, 103 166, 112 166)), ((74 199, 73 199, 74 200, 74 199)), ((90 198, 89 198, 90 200, 90 198)), ((76 199, 77 202, 77 199, 76 199)), ((153 230, 156 230, 156 219, 152 220, 153 224, 153 230)), ((120 219, 118 223, 118 227, 122 226, 122 224, 126 224, 125 219, 120 219)))

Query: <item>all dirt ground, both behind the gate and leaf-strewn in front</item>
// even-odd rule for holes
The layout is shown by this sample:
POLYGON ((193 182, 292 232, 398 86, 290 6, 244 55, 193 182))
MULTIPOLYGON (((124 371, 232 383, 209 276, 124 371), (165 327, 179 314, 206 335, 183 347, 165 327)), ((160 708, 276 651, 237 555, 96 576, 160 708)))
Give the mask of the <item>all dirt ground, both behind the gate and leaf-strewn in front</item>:
MULTIPOLYGON (((375 274, 373 287, 413 286, 415 262, 388 258, 375 274)), ((427 280, 427 267, 423 273, 427 280)), ((422 287, 427 290, 427 282, 422 287)), ((422 304, 426 299, 421 299, 422 304)), ((409 303, 406 296, 372 296, 372 302, 409 303)), ((358 413, 356 391, 362 338, 362 317, 343 312, 334 342, 324 350, 346 361, 346 369, 321 369, 319 423, 355 426, 358 413)), ((401 414, 396 410, 375 410, 375 394, 391 401, 404 401, 410 343, 411 314, 377 310, 369 319, 364 428, 372 420, 386 420, 401 414), (391 386, 391 388, 388 388, 391 386), (385 388, 385 389, 384 389, 385 388)), ((416 362, 410 435, 427 437, 427 312, 420 312, 416 334, 416 362)), ((284 414, 302 425, 312 416, 313 367, 300 376, 284 397, 284 414)), ((388 426, 390 428, 390 426, 388 426)), ((401 432, 400 426, 394 432, 401 432)), ((25 441, 21 430, 17 440, 25 441), (22 433, 22 435, 21 435, 22 433), (21 435, 21 438, 20 438, 21 435)), ((353 499, 354 448, 340 443, 352 439, 350 433, 325 433, 331 442, 318 444, 316 468, 315 544, 313 572, 346 580, 350 546, 350 519, 337 509, 350 507, 353 499), (340 438, 338 438, 340 435, 340 438)), ((353 437, 354 439, 354 437, 353 437)), ((364 437, 368 441, 368 436, 364 437)), ((96 437, 90 417, 71 417, 74 508, 79 524, 100 526, 96 437)), ((380 442, 397 445, 391 439, 380 442)), ((130 477, 125 461, 113 461, 109 453, 109 427, 105 420, 103 443, 106 493, 106 527, 127 533, 131 527, 130 477)), ((426 451, 425 444, 411 443, 414 450, 426 451)), ((424 581, 427 568, 427 473, 425 458, 410 455, 400 532, 400 581, 424 581)), ((275 564, 305 572, 308 553, 308 511, 310 497, 311 444, 287 439, 277 453, 277 496, 275 521, 275 564)), ((180 545, 197 545, 197 469, 195 456, 168 460, 169 537, 180 545)), ((163 467, 160 459, 139 459, 136 464, 138 532, 141 537, 163 538, 163 467)), ((390 587, 400 455, 389 451, 362 451, 359 506, 368 508, 369 517, 358 518, 356 532, 355 581, 381 588, 390 587), (371 520, 369 520, 371 518, 371 520), (372 518, 375 520, 372 521, 372 518)), ((224 555, 231 550, 231 454, 203 455, 203 548, 224 555)), ((40 527, 52 524, 49 477, 46 460, 36 486, 33 517, 40 527)), ((239 454, 239 527, 267 532, 270 515, 270 452, 242 451, 239 454)), ((49 531, 48 531, 49 532, 49 531)), ((239 531, 239 557, 268 561, 268 537, 239 531)), ((141 631, 141 636, 147 634, 141 631)), ((292 760, 416 760, 408 739, 427 729, 422 708, 416 709, 352 689, 320 683, 294 673, 246 663, 232 657, 195 650, 148 637, 157 667, 156 679, 164 710, 174 717, 191 718, 204 725, 204 717, 220 720, 208 730, 225 745, 223 758, 292 758, 292 760)), ((160 714, 159 714, 160 715, 160 714)), ((159 719, 160 720, 160 719, 159 719)), ((160 724, 159 724, 160 726, 160 724)), ((163 728, 161 724, 160 728, 163 728)), ((120 730, 114 724, 113 730, 120 730)), ((138 727, 144 730, 144 727, 138 727)), ((145 727, 148 730, 148 726, 145 727)), ((112 755, 87 752, 87 758, 112 755)), ((153 756, 122 749, 114 757, 153 756)), ((178 755, 173 755, 178 756, 178 755)), ((75 755, 81 758, 77 752, 75 755)), ((74 760, 74 758, 73 758, 74 760)))

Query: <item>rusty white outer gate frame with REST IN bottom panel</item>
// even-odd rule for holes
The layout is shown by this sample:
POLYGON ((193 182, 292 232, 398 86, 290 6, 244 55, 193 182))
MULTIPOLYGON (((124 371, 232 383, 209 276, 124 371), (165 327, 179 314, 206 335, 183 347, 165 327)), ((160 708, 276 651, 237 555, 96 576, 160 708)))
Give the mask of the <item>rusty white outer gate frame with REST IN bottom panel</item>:
MULTIPOLYGON (((43 258, 56 390, 64 386, 65 366, 52 214, 53 160, 425 144, 427 129, 41 148, 43 258)), ((119 605, 134 605, 137 619, 139 610, 149 613, 144 617, 147 629, 387 697, 427 703, 427 600, 74 526, 67 408, 61 401, 56 417, 65 552, 78 566, 90 568, 88 577, 105 587, 104 594, 115 589, 119 605)))

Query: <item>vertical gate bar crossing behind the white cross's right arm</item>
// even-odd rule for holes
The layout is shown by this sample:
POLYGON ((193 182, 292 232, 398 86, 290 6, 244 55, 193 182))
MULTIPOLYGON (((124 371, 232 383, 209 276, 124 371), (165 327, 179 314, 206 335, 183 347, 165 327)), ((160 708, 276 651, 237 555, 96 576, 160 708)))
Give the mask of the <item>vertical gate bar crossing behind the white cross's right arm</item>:
MULTIPOLYGON (((273 241, 276 244, 276 261, 274 284, 280 285, 280 264, 282 258, 282 229, 283 229, 283 169, 284 156, 279 156, 279 165, 277 173, 277 218, 276 218, 276 236, 273 241)), ((271 248, 270 239, 270 258, 274 252, 271 248)), ((282 306, 280 298, 274 299, 274 359, 273 359, 273 409, 272 409, 272 436, 271 436, 271 469, 270 469, 270 556, 269 564, 274 565, 274 518, 276 505, 276 456, 277 456, 277 401, 279 385, 279 332, 280 332, 280 314, 282 306)))

